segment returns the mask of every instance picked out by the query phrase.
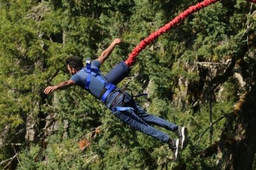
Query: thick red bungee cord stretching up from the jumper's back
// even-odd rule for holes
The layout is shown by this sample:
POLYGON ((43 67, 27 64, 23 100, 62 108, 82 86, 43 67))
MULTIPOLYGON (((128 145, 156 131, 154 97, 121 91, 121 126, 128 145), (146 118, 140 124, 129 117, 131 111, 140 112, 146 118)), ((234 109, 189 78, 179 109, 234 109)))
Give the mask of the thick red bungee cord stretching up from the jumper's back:
MULTIPOLYGON (((151 35, 148 36, 148 38, 143 39, 140 44, 138 44, 137 47, 135 47, 132 50, 132 53, 130 53, 129 57, 125 61, 127 66, 132 66, 135 63, 136 56, 143 50, 148 44, 150 44, 152 41, 154 41, 158 36, 162 35, 163 33, 167 32, 169 29, 171 29, 174 25, 179 24, 181 21, 183 21, 185 18, 187 18, 189 15, 191 15, 194 12, 199 11, 203 7, 207 7, 210 4, 213 4, 219 0, 205 0, 202 2, 199 2, 196 5, 193 5, 189 7, 187 10, 184 12, 180 13, 176 18, 172 19, 171 22, 168 24, 164 25, 160 29, 158 29, 156 32, 151 33, 151 35)), ((256 0, 249 0, 249 1, 256 1, 256 0)))

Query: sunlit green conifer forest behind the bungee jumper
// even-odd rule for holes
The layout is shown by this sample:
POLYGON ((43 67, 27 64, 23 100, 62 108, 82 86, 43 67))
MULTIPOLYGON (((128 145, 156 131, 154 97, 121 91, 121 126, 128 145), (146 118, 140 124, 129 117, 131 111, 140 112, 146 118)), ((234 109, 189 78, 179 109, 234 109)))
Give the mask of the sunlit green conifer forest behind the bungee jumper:
MULTIPOLYGON (((137 57, 119 87, 148 112, 187 126, 177 161, 67 80, 65 58, 96 59, 122 38, 107 73, 150 33, 199 1, 0 0, 1 169, 256 169, 256 6, 220 1, 137 57), (82 149, 82 150, 81 150, 82 149)), ((161 129, 175 137, 174 133, 161 129)))

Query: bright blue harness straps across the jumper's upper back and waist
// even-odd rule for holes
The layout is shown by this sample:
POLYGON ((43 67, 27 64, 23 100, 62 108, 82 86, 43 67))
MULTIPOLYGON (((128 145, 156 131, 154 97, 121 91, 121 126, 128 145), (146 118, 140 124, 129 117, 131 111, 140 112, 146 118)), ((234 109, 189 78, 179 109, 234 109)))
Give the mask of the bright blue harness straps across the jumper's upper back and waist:
POLYGON ((101 74, 99 73, 99 69, 91 69, 91 63, 90 63, 90 59, 89 58, 86 59, 85 71, 88 73, 87 81, 85 83, 85 89, 89 89, 89 87, 90 87, 91 75, 93 75, 94 77, 98 78, 98 80, 101 81, 102 84, 104 84, 105 89, 107 89, 104 92, 104 94, 102 95, 102 97, 100 98, 100 100, 104 103, 105 100, 107 99, 108 94, 110 94, 116 88, 116 86, 114 84, 111 84, 111 83, 106 83, 106 81, 104 81, 100 77, 101 74))

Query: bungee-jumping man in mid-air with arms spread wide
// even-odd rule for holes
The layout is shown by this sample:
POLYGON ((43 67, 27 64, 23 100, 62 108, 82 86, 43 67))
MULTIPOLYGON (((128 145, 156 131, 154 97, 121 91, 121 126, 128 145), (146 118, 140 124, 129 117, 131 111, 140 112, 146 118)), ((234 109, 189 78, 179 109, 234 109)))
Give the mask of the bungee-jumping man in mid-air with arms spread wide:
POLYGON ((114 85, 118 84, 119 81, 123 80, 127 73, 129 73, 129 67, 132 66, 134 61, 130 63, 129 58, 125 62, 122 61, 112 69, 106 77, 104 77, 99 70, 99 67, 112 53, 115 46, 120 43, 121 39, 116 38, 110 46, 101 53, 98 60, 94 60, 91 64, 87 61, 86 67, 84 67, 82 60, 78 56, 69 57, 66 60, 66 64, 69 73, 72 75, 70 80, 63 81, 57 86, 48 86, 44 89, 44 93, 50 94, 55 90, 67 89, 74 85, 82 87, 94 97, 101 100, 120 120, 130 124, 130 126, 134 127, 137 131, 157 138, 164 143, 168 143, 169 148, 171 148, 173 152, 173 160, 176 160, 179 146, 181 149, 185 149, 187 146, 187 128, 179 127, 162 118, 147 114, 129 94, 114 85), (155 129, 151 125, 165 127, 175 132, 179 138, 171 139, 169 135, 158 131, 158 129, 155 129))

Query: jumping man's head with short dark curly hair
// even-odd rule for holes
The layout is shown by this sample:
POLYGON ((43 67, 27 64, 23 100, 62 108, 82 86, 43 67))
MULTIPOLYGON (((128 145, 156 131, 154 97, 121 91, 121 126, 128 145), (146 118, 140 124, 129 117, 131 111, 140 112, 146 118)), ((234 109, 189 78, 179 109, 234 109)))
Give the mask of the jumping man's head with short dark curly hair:
POLYGON ((68 70, 71 75, 74 75, 84 67, 82 59, 74 55, 66 59, 66 64, 68 65, 68 70))

